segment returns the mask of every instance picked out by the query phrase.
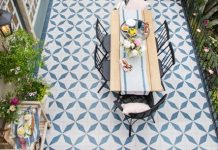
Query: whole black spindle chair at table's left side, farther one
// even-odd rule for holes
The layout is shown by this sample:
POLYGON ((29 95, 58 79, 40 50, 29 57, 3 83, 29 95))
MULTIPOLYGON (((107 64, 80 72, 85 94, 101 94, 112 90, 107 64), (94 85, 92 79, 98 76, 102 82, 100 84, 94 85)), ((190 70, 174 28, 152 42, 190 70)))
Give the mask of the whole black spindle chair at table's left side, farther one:
POLYGON ((95 30, 96 30, 96 37, 100 42, 100 46, 103 47, 103 49, 107 54, 110 53, 111 35, 107 33, 106 29, 102 26, 98 18, 96 21, 95 30))

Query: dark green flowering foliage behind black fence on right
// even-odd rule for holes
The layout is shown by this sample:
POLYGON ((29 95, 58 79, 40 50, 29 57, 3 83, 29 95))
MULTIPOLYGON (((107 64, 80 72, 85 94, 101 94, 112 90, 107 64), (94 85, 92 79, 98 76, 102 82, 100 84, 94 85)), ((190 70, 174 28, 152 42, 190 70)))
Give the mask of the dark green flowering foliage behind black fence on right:
POLYGON ((197 47, 208 95, 218 115, 218 1, 187 1, 188 19, 197 47))

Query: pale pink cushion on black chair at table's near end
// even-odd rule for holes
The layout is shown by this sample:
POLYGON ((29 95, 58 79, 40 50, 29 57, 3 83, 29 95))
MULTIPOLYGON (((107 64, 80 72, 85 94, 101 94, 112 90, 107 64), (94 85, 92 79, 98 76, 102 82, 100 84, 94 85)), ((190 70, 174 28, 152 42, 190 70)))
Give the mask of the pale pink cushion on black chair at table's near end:
POLYGON ((129 115, 130 113, 142 113, 150 109, 150 107, 145 103, 127 103, 122 104, 123 113, 129 115))

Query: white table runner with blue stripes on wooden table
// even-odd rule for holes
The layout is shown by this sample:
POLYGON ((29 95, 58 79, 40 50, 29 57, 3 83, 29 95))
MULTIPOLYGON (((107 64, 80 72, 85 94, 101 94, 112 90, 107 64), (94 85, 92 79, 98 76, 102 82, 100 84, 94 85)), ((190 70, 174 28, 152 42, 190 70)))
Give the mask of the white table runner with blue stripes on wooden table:
MULTIPOLYGON (((126 10, 120 9, 120 26, 128 19, 144 20, 142 18, 142 12, 140 10, 126 10)), ((120 43, 124 40, 120 34, 120 43)), ((128 58, 124 47, 120 46, 120 59, 125 58, 129 64, 133 66, 132 70, 125 72, 120 67, 120 79, 121 79, 121 94, 135 94, 135 95, 147 95, 151 90, 149 84, 149 68, 146 68, 148 64, 148 57, 146 52, 146 41, 142 43, 142 55, 128 58)))

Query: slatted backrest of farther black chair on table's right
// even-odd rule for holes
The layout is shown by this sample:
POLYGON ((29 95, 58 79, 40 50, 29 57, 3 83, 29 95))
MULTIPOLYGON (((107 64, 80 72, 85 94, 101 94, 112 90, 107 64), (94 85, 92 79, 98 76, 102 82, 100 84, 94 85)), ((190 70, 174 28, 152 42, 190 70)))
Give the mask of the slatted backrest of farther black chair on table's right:
POLYGON ((165 20, 163 24, 155 31, 157 51, 170 39, 169 27, 165 20))

